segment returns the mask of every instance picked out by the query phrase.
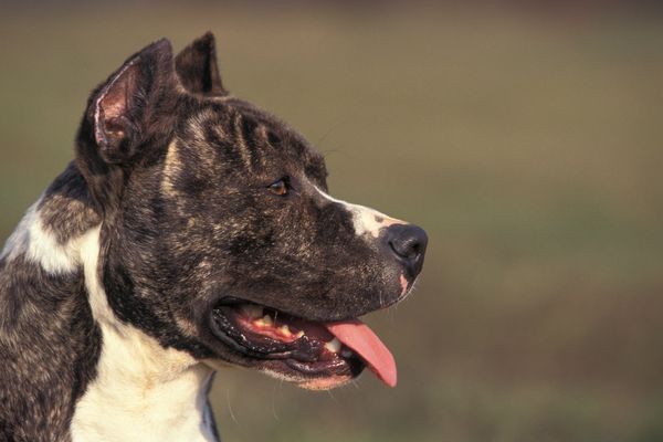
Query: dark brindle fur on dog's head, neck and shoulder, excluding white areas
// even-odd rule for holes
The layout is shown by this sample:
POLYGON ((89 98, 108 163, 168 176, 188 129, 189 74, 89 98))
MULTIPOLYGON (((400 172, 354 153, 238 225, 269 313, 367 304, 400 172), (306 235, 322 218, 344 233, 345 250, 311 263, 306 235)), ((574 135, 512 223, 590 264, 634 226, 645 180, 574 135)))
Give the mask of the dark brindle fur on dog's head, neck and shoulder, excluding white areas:
MULTIPOLYGON (((166 40, 147 46, 92 93, 75 161, 34 211, 61 245, 101 224, 98 272, 122 323, 252 366, 210 332, 223 296, 333 320, 402 295, 381 242, 324 198, 326 176, 301 135, 223 88, 208 33, 177 59, 166 40), (267 189, 282 177, 286 197, 267 189)), ((0 440, 71 438, 103 340, 81 269, 46 272, 20 238, 2 254, 0 440)))

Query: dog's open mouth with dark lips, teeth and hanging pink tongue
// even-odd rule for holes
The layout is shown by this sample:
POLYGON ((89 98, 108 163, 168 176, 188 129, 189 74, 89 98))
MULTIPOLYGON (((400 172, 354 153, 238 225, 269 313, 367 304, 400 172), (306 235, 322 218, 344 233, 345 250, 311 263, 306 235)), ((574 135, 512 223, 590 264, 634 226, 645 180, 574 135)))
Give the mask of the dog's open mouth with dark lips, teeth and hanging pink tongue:
POLYGON ((211 315, 217 338, 244 357, 269 362, 280 375, 309 388, 329 388, 369 367, 396 386, 396 364, 376 334, 359 319, 314 322, 274 308, 232 299, 211 315))

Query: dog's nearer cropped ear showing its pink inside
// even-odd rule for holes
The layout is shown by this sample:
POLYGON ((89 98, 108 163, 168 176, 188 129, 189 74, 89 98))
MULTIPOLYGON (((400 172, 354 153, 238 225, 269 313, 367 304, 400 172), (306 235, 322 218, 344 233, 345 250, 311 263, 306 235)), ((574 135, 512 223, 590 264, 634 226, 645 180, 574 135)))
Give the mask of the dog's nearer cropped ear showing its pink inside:
POLYGON ((172 48, 164 39, 130 56, 93 93, 87 118, 103 160, 127 161, 159 130, 154 120, 175 84, 172 48))

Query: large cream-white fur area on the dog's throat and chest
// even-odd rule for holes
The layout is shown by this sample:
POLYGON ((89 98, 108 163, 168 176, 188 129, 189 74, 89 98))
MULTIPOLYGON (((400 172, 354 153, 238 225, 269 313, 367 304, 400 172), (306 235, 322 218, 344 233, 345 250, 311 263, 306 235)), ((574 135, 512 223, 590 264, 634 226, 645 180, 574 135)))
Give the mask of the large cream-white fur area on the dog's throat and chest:
POLYGON ((73 442, 214 441, 207 409, 212 370, 120 323, 98 278, 99 228, 81 240, 81 260, 103 347, 97 377, 76 403, 73 442))

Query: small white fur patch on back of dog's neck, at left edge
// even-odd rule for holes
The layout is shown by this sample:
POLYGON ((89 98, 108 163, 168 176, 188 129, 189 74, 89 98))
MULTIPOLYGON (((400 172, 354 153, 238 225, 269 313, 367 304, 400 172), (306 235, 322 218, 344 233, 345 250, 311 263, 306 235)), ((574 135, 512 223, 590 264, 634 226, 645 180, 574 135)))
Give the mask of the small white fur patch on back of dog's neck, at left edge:
POLYGON ((25 254, 25 259, 41 266, 49 273, 70 273, 80 264, 80 238, 74 238, 65 244, 57 242, 53 233, 42 223, 38 200, 28 209, 25 215, 9 236, 0 257, 12 261, 25 254))

